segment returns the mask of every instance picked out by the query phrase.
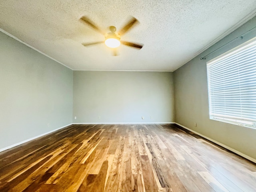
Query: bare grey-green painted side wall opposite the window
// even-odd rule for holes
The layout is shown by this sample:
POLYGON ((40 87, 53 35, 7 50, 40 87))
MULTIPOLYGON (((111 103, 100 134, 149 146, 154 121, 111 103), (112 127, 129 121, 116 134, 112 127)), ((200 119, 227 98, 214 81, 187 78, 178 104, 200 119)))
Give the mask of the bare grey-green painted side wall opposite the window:
POLYGON ((73 71, 0 32, 0 149, 72 123, 73 71))

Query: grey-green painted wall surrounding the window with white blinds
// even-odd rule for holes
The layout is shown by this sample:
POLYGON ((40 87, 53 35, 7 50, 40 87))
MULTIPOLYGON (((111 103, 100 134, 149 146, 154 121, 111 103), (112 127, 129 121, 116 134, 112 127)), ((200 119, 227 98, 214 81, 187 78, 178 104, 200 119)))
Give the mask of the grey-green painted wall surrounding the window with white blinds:
POLYGON ((176 122, 254 159, 256 159, 256 129, 209 119, 206 62, 255 37, 256 29, 243 39, 238 38, 210 54, 206 60, 200 60, 200 57, 206 56, 255 26, 256 18, 253 18, 174 72, 176 122))

